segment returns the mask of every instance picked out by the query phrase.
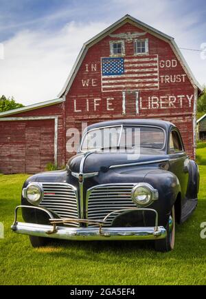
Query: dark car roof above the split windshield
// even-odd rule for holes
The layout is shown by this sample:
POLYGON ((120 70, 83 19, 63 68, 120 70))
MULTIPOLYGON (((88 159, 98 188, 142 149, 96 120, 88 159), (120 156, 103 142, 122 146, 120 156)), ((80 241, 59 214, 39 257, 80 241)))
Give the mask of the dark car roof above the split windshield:
POLYGON ((175 127, 173 123, 169 121, 162 121, 160 119, 153 118, 130 118, 130 119, 117 119, 115 121, 102 121, 100 123, 94 123, 93 125, 89 125, 86 128, 86 131, 95 129, 96 127, 107 127, 113 125, 148 125, 148 126, 158 126, 162 127, 164 130, 168 131, 170 127, 175 127))

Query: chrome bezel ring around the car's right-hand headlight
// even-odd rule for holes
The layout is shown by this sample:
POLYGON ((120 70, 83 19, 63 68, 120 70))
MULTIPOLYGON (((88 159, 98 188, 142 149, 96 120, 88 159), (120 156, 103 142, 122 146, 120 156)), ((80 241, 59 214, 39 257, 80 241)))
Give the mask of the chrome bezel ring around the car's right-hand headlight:
POLYGON ((133 203, 135 203, 137 207, 148 207, 148 205, 151 205, 154 200, 157 200, 159 198, 159 194, 157 189, 153 188, 152 185, 148 183, 137 183, 132 189, 131 198, 133 200, 133 203), (141 200, 138 200, 137 196, 135 195, 135 192, 137 192, 137 189, 140 187, 146 189, 148 191, 148 194, 150 194, 150 200, 148 200, 147 202, 141 202, 141 200))

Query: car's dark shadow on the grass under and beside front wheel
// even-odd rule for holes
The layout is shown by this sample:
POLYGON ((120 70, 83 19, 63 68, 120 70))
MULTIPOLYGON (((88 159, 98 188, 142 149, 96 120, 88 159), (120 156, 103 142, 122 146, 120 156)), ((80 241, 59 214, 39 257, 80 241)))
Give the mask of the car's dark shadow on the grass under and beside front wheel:
POLYGON ((51 240, 49 247, 45 249, 36 249, 42 254, 69 257, 78 260, 102 260, 106 261, 108 255, 113 258, 113 262, 117 262, 119 258, 124 260, 127 257, 134 257, 134 260, 145 258, 161 258, 166 257, 175 260, 187 260, 193 262, 194 258, 203 258, 204 256, 204 240, 199 235, 199 227, 194 227, 196 216, 192 216, 182 225, 176 225, 176 246, 169 253, 158 253, 155 251, 154 241, 69 241, 69 240, 51 240), (54 250, 52 250, 54 249, 54 250), (68 251, 69 250, 69 251, 68 251))

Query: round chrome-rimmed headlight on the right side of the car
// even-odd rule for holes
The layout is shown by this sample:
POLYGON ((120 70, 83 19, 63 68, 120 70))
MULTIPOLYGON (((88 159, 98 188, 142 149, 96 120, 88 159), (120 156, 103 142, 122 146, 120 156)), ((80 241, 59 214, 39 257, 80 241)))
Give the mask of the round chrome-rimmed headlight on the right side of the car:
POLYGON ((157 198, 157 190, 147 183, 138 183, 132 190, 132 199, 136 205, 149 205, 157 198))

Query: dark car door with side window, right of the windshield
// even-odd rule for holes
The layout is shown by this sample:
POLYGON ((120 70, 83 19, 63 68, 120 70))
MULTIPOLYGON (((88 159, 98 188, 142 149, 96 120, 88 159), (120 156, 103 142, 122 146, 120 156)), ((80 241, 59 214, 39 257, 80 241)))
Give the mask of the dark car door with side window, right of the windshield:
POLYGON ((173 172, 181 185, 182 204, 186 201, 187 184, 189 179, 189 157, 185 153, 179 130, 170 130, 168 154, 170 156, 170 172, 173 172))

